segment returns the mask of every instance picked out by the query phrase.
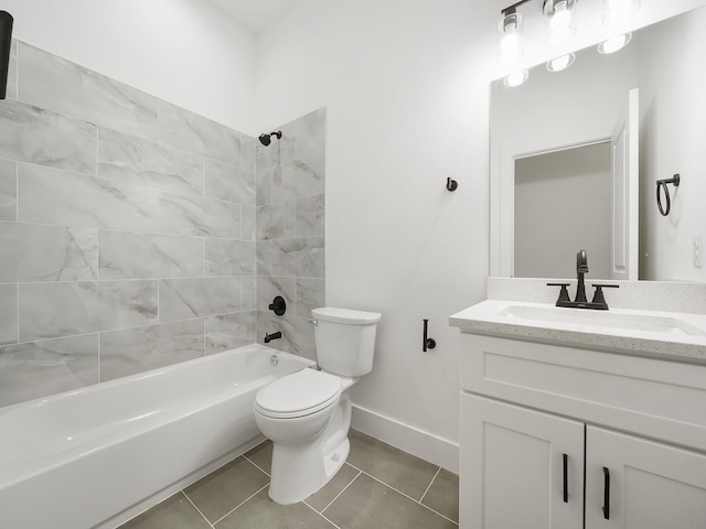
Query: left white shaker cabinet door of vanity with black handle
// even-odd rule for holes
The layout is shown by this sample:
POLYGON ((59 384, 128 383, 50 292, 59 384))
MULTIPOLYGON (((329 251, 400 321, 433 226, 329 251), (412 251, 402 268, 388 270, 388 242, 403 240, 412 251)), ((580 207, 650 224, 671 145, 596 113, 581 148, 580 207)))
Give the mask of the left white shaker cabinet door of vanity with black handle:
POLYGON ((582 528, 584 423, 467 393, 460 411, 461 529, 582 528))

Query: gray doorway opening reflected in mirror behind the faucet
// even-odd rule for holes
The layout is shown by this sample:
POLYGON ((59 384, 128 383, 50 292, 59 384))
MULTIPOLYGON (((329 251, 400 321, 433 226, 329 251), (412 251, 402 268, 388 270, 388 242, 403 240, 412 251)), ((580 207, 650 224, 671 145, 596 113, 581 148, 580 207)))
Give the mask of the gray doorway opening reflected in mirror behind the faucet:
POLYGON ((578 245, 590 272, 609 277, 611 193, 609 142, 516 159, 515 276, 560 278, 578 245))

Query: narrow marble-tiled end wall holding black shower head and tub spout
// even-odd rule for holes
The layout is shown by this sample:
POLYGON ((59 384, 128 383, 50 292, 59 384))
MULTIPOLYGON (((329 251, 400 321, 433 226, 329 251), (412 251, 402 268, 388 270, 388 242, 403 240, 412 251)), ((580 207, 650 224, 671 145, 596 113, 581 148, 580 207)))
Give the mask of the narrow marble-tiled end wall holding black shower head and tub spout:
POLYGON ((257 338, 281 331, 277 348, 315 359, 311 309, 324 305, 325 109, 257 144, 257 338), (277 316, 276 295, 287 302, 277 316))

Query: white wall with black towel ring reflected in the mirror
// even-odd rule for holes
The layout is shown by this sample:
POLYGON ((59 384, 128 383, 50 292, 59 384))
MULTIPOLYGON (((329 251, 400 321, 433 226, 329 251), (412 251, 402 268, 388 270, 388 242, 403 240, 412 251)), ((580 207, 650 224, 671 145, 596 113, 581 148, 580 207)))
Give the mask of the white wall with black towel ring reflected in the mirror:
POLYGON ((706 268, 694 267, 692 260, 694 237, 706 242, 705 23, 702 9, 661 24, 659 32, 640 35, 645 65, 640 71, 640 277, 644 279, 706 280, 706 268), (677 190, 668 185, 672 212, 663 217, 655 182, 674 173, 681 174, 682 183, 677 190))

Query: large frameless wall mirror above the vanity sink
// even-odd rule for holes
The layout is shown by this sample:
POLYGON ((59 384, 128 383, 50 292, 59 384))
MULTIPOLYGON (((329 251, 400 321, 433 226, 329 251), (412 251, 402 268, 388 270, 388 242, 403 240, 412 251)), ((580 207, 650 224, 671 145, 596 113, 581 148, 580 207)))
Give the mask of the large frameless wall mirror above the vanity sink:
POLYGON ((699 8, 491 84, 491 276, 571 278, 585 248, 591 279, 706 280, 704 24, 699 8))

